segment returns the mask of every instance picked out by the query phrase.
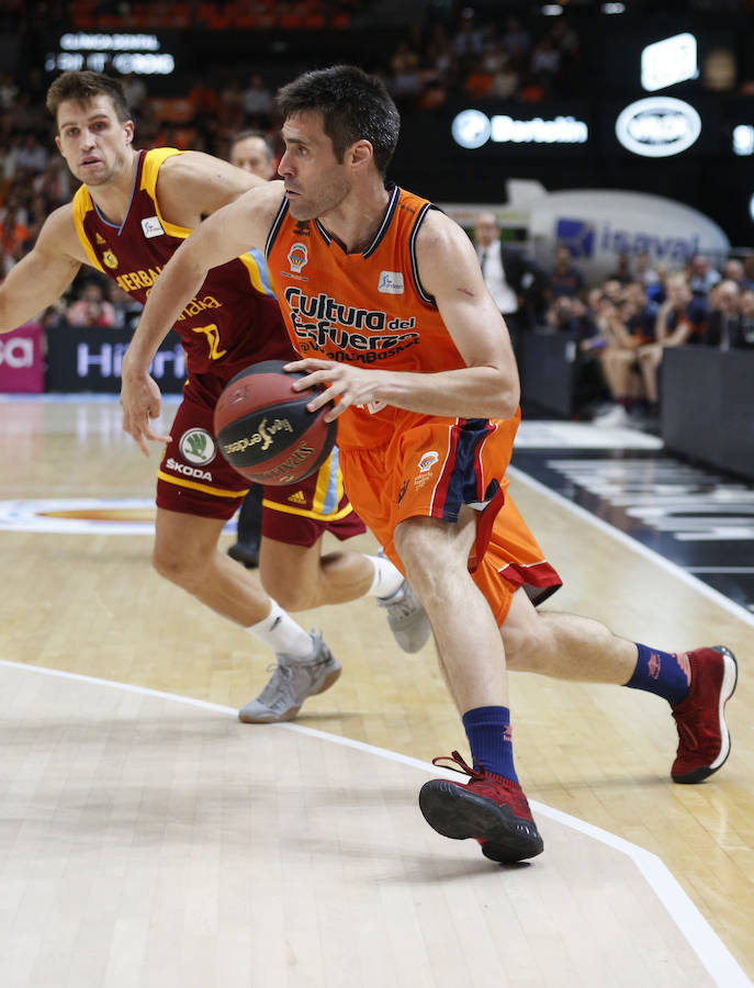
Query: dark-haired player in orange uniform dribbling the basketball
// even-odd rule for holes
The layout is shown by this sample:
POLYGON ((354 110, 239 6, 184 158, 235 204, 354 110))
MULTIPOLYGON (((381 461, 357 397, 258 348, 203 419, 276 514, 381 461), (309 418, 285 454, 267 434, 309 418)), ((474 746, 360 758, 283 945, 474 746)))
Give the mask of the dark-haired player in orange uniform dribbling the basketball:
MULTIPOLYGON (((534 609, 560 581, 505 493, 519 420, 508 333, 463 231, 385 186, 398 114, 383 83, 336 66, 283 87, 278 104, 283 183, 220 210, 176 252, 136 332, 142 371, 207 269, 266 245, 304 358, 289 369, 310 372, 294 386, 326 385, 312 409, 338 402, 328 417, 349 494, 424 604, 462 715, 472 765, 452 759, 469 778, 426 783, 426 819, 493 861, 542 851, 514 766, 506 665, 664 697, 679 736, 672 777, 716 772, 730 750, 728 649, 671 654, 534 609)), ((128 408, 146 436, 147 413, 128 408)))

